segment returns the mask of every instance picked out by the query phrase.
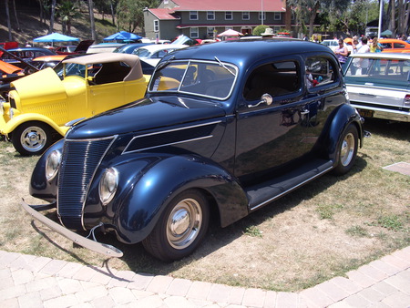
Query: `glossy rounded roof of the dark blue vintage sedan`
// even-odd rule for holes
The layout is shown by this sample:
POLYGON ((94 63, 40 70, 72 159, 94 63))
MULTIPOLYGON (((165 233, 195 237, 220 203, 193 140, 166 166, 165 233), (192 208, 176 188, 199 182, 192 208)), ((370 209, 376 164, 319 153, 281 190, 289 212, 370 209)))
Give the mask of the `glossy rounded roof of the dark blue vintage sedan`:
POLYGON ((199 46, 190 46, 174 51, 164 56, 162 61, 169 57, 175 59, 201 59, 220 61, 243 67, 257 59, 272 56, 301 54, 301 50, 312 53, 326 53, 334 55, 333 51, 323 44, 304 41, 297 38, 272 37, 252 40, 231 40, 199 46))

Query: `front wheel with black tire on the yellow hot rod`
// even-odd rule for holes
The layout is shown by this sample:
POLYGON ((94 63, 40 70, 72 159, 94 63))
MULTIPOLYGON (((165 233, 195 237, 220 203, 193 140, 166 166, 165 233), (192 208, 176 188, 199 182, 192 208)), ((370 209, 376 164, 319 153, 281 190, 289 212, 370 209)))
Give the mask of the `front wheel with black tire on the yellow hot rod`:
POLYGON ((39 155, 52 144, 52 129, 41 122, 26 122, 15 128, 11 139, 21 155, 39 155))

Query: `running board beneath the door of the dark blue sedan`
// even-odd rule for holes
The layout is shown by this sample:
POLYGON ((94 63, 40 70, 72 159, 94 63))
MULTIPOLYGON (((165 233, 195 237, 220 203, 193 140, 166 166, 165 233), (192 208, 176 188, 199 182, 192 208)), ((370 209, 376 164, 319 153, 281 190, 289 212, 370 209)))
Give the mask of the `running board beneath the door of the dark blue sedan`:
POLYGON ((246 190, 250 210, 272 202, 333 169, 333 160, 315 159, 282 177, 251 186, 246 190))

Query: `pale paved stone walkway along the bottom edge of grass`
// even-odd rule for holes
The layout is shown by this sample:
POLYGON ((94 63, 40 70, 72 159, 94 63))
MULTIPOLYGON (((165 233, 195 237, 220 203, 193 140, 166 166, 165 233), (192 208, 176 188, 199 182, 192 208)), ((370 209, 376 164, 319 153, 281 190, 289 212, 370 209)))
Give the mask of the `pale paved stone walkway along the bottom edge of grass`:
POLYGON ((410 307, 410 247, 300 293, 231 287, 0 251, 2 307, 410 307))

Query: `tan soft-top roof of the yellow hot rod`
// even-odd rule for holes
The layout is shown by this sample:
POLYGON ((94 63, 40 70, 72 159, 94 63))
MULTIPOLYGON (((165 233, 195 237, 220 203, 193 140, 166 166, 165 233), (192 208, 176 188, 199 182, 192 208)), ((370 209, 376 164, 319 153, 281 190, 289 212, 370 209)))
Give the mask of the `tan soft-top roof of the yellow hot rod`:
POLYGON ((77 56, 63 60, 63 63, 75 63, 83 66, 96 63, 124 62, 131 70, 124 81, 138 79, 143 76, 142 68, 139 63, 139 56, 119 53, 99 53, 90 54, 88 56, 77 56))

